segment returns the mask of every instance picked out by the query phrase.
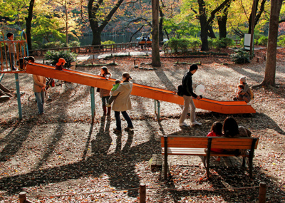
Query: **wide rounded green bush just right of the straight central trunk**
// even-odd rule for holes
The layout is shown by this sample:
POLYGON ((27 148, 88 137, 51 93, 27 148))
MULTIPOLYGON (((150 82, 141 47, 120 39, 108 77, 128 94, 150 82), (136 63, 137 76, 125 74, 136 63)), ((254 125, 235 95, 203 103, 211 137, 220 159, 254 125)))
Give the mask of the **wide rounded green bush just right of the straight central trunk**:
POLYGON ((179 50, 182 51, 182 53, 185 53, 188 51, 188 48, 192 48, 194 51, 196 51, 197 47, 199 47, 202 42, 199 40, 199 38, 170 38, 169 41, 167 41, 168 46, 177 53, 179 50))

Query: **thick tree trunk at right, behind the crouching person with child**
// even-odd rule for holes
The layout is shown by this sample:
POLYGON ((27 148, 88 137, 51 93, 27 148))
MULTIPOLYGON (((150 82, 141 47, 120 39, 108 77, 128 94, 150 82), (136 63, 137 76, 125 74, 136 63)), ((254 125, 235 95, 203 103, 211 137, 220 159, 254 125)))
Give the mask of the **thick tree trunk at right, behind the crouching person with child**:
POLYGON ((254 88, 257 88, 259 86, 267 86, 269 88, 275 87, 277 36, 279 27, 279 14, 282 3, 283 0, 271 1, 264 80, 261 84, 255 85, 254 88))

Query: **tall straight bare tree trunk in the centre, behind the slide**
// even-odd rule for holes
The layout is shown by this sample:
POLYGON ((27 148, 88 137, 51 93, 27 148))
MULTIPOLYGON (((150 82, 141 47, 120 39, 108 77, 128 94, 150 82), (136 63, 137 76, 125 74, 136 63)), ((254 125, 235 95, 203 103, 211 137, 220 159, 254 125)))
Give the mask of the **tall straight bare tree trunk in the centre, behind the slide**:
POLYGON ((160 67, 160 41, 158 34, 158 0, 152 0, 152 66, 160 67))

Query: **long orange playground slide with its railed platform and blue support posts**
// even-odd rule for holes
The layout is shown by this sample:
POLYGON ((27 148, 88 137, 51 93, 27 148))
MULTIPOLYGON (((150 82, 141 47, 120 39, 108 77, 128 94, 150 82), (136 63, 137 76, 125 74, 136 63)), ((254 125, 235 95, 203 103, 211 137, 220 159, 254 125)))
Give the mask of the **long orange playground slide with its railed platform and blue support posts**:
MULTIPOLYGON (((6 57, 6 43, 8 41, 4 40, 4 33, 2 33, 3 41, 0 41, 1 48, 1 72, 0 73, 14 73, 16 79, 16 90, 18 98, 18 107, 19 107, 19 118, 22 118, 21 113, 21 95, 19 90, 19 77, 18 73, 30 73, 38 76, 45 76, 48 78, 55 78, 58 80, 68 81, 69 83, 76 83, 82 85, 90 86, 90 97, 91 97, 91 110, 92 110, 92 119, 95 117, 95 98, 94 88, 104 88, 111 89, 113 88, 113 83, 115 79, 106 80, 104 77, 100 77, 91 73, 85 73, 81 71, 75 71, 74 68, 63 69, 63 71, 58 71, 53 66, 48 66, 41 63, 26 63, 24 61, 24 71, 10 71, 8 68, 8 61, 6 57), (4 47, 4 48, 3 48, 4 47), (5 66, 6 65, 6 66, 5 66), (6 68, 5 68, 6 67, 6 68)), ((23 39, 23 36, 26 36, 26 33, 22 31, 21 41, 15 41, 17 48, 16 57, 24 58, 28 56, 28 47, 26 46, 26 39, 23 39)), ((3 78, 3 75, 1 76, 3 78)), ((160 118, 160 101, 166 101, 170 103, 176 103, 179 105, 184 104, 182 97, 178 96, 175 92, 170 90, 164 90, 162 88, 154 88, 147 85, 140 85, 133 83, 132 95, 138 95, 145 98, 151 98, 155 100, 155 113, 157 113, 157 118, 160 118)), ((211 100, 208 98, 194 99, 194 103, 197 108, 204 110, 213 111, 216 113, 222 114, 238 114, 238 113, 256 113, 254 108, 251 105, 247 104, 244 101, 217 101, 211 100)))

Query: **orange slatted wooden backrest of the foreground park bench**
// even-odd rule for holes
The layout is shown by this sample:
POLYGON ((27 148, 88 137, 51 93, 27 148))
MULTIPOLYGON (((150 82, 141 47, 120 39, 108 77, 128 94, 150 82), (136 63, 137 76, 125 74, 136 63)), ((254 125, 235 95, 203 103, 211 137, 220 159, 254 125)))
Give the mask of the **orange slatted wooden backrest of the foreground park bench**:
POLYGON ((254 149, 257 149, 259 138, 255 137, 191 137, 191 136, 162 136, 161 147, 165 147, 165 138, 167 138, 167 147, 178 148, 207 148, 211 142, 211 148, 217 149, 252 149, 253 140, 257 140, 254 149))

